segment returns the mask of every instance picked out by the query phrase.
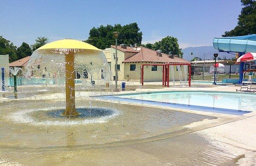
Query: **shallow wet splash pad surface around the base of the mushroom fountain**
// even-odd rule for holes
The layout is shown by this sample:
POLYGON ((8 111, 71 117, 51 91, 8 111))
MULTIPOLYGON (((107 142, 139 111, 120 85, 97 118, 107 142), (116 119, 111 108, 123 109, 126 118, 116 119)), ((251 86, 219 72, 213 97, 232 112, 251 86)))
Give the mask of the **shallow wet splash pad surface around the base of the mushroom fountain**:
POLYGON ((61 111, 56 105, 64 105, 64 101, 41 101, 36 106, 34 101, 3 104, 6 112, 0 113, 0 129, 5 134, 1 135, 0 147, 48 149, 125 145, 169 138, 179 132, 186 132, 182 128, 186 124, 213 118, 152 107, 87 100, 76 101, 77 107, 86 112, 82 114, 83 117, 63 118, 55 117, 61 111), (84 105, 91 106, 89 110, 94 111, 91 116, 84 105), (22 107, 25 109, 17 109, 22 107), (101 110, 98 111, 98 108, 101 110))

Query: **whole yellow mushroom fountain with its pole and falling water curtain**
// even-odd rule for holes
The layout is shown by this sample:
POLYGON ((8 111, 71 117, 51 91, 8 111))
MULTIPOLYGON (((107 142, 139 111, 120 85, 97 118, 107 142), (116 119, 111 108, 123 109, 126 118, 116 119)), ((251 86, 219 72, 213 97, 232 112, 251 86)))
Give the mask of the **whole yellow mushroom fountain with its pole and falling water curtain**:
MULTIPOLYGON (((100 73, 108 71, 104 53, 86 42, 62 39, 50 42, 33 52, 28 65, 30 71, 39 68, 47 70, 51 76, 65 78, 66 110, 65 116, 77 116, 75 107, 75 70, 100 73)), ((108 79, 108 76, 105 76, 108 79)))

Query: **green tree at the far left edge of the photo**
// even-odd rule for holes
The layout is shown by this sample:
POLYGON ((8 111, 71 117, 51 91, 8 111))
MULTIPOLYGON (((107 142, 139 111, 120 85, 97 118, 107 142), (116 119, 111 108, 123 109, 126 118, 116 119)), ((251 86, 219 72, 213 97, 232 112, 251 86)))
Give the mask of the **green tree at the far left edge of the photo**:
POLYGON ((17 47, 13 45, 10 40, 3 38, 0 36, 0 55, 9 54, 9 62, 16 61, 17 57, 17 47))

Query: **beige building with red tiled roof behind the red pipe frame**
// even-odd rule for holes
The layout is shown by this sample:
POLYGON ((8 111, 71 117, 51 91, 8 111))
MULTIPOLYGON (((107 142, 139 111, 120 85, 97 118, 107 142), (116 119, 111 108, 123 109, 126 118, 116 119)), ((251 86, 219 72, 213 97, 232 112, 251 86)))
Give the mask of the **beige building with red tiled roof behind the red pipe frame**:
MULTIPOLYGON (((112 78, 115 79, 115 59, 114 54, 116 53, 116 47, 111 45, 111 48, 103 50, 110 65, 112 78)), ((185 59, 178 58, 176 56, 170 56, 165 53, 157 54, 156 51, 145 48, 137 47, 132 48, 125 45, 117 46, 117 69, 118 69, 118 80, 135 80, 141 79, 141 66, 143 64, 164 64, 164 63, 190 63, 185 59)), ((170 70, 171 70, 170 66, 170 70)), ((184 68, 180 66, 182 72, 182 79, 185 79, 184 68)), ((145 66, 144 67, 144 82, 160 82, 162 81, 161 66, 145 66)), ((178 67, 174 65, 175 81, 179 79, 178 67)), ((170 81, 172 77, 170 76, 170 81)))

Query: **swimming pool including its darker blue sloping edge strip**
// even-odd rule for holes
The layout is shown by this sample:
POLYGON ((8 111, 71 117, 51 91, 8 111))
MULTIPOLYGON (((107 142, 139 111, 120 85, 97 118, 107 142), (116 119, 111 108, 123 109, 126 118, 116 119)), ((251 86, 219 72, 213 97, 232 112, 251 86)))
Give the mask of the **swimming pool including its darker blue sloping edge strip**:
POLYGON ((172 91, 105 96, 105 98, 232 115, 243 115, 256 111, 256 94, 250 93, 172 91))

